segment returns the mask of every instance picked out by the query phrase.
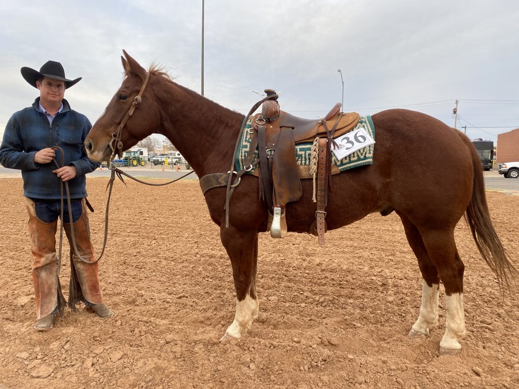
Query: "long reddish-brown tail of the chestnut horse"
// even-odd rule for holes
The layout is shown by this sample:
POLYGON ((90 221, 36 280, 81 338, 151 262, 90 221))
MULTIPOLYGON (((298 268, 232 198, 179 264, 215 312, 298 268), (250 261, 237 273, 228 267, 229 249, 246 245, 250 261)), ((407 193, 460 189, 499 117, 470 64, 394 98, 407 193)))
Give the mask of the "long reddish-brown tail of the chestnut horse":
POLYGON ((474 171, 472 199, 467 207, 465 220, 470 227, 472 237, 476 242, 477 249, 479 249, 481 256, 490 269, 496 274, 499 288, 503 290, 503 285, 506 284, 510 290, 509 277, 511 277, 515 283, 519 272, 514 267, 512 259, 504 249, 490 219, 480 156, 477 154, 469 138, 461 132, 459 132, 459 135, 470 150, 472 168, 474 171))

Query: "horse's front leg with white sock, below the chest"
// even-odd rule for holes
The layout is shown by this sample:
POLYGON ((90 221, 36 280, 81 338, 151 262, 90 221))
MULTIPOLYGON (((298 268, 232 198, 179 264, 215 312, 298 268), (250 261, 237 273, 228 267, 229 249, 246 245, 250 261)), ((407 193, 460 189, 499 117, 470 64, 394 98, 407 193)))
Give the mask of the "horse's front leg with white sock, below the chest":
POLYGON ((240 338, 258 315, 256 295, 256 265, 258 255, 258 233, 239 231, 233 226, 221 227, 220 239, 233 266, 236 289, 236 314, 233 324, 225 331, 221 340, 240 338))

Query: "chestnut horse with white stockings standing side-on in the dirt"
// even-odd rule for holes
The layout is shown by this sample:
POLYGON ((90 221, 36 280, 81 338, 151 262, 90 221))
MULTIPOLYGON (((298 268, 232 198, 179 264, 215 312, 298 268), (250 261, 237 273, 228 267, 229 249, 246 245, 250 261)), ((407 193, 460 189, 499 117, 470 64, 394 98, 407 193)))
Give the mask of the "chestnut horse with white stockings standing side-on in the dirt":
MULTIPOLYGON (((152 66, 146 71, 124 54, 125 78, 85 140, 89 158, 108 160, 113 154, 113 134, 128 119, 120 135, 122 150, 160 133, 182 153, 198 177, 228 172, 244 116, 176 84, 160 68, 152 66), (142 91, 144 80, 147 86, 142 91), (140 105, 131 116, 126 115, 140 94, 140 105)), ((333 175, 327 228, 394 209, 423 277, 421 308, 409 335, 427 336, 438 321, 441 281, 446 294, 446 329, 440 351, 457 354, 465 332, 465 266, 458 255, 454 228, 464 214, 499 285, 508 284, 510 276, 517 274, 489 217, 481 161, 465 135, 428 115, 389 109, 373 115, 372 120, 377 142, 373 164, 333 175)), ((303 180, 302 187, 303 198, 286 207, 288 231, 308 232, 315 220, 312 180, 303 180)), ((208 190, 205 199, 211 219, 220 226, 236 288, 235 319, 222 339, 239 338, 258 315, 258 232, 267 228, 267 205, 258 198, 258 179, 248 174, 242 176, 231 197, 228 227, 226 188, 208 190)))

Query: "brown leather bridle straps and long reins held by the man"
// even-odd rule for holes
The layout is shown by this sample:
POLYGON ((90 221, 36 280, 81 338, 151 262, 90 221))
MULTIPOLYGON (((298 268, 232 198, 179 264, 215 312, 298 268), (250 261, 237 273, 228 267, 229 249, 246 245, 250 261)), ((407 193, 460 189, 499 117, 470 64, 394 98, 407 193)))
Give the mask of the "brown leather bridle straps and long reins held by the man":
MULTIPOLYGON (((169 184, 172 184, 174 183, 175 181, 178 181, 179 179, 182 179, 186 176, 188 176, 189 174, 192 174, 194 173, 194 170, 184 174, 183 176, 179 177, 179 178, 175 178, 175 179, 172 179, 171 181, 168 181, 167 183, 161 183, 161 184, 152 184, 152 183, 148 183, 148 182, 145 182, 143 180, 140 180, 138 178, 135 178, 133 176, 131 176, 130 174, 120 170, 117 168, 117 166, 113 163, 113 160, 114 160, 114 157, 115 157, 115 154, 116 154, 116 150, 117 150, 117 153, 119 156, 122 156, 122 142, 121 142, 121 134, 122 134, 122 129, 125 127, 125 124, 126 122, 128 121, 128 119, 133 115, 133 112, 135 111, 135 108, 141 103, 142 101, 142 94, 144 92, 144 89, 146 89, 146 85, 148 84, 148 79, 149 79, 149 72, 146 72, 146 78, 144 79, 144 82, 141 86, 141 90, 139 91, 139 94, 135 96, 135 99, 133 100, 133 103, 131 104, 130 108, 128 109, 128 112, 126 113, 125 117, 122 119, 121 123, 119 124, 119 126, 117 127, 117 130, 112 134, 112 140, 110 141, 110 143, 108 143, 108 146, 107 147, 110 147, 112 149, 112 155, 110 156, 110 158, 108 158, 108 165, 110 166, 110 170, 112 171, 112 174, 110 176, 110 180, 108 181, 108 184, 106 185, 106 190, 108 190, 108 199, 106 200, 106 211, 105 211, 105 216, 104 216, 104 240, 103 240, 103 248, 101 250, 101 254, 99 255, 99 258, 94 260, 94 261, 90 261, 88 259, 85 259, 84 257, 82 257, 81 255, 79 255, 79 252, 78 252, 78 249, 77 249, 77 246, 76 246, 76 240, 75 240, 75 237, 74 237, 74 223, 72 223, 73 219, 72 219, 72 206, 71 206, 71 200, 70 200, 70 192, 69 192, 69 183, 68 182, 64 182, 61 181, 61 220, 63 220, 63 184, 65 184, 65 191, 66 191, 66 200, 67 200, 67 205, 69 206, 69 218, 70 218, 70 225, 71 225, 71 238, 72 238, 72 242, 73 242, 73 249, 74 249, 74 254, 76 254, 76 256, 79 258, 79 260, 81 260, 82 262, 85 262, 85 263, 89 263, 90 265, 93 265, 93 263, 97 263, 99 262, 99 260, 101 259, 101 257, 103 256, 104 254, 104 249, 106 247, 106 241, 108 239, 108 209, 110 208, 110 198, 112 196, 112 188, 113 188, 113 185, 114 185, 114 181, 115 181, 115 175, 117 174, 117 177, 122 181, 123 184, 126 185, 124 179, 122 178, 122 176, 127 176, 131 179, 133 179, 134 181, 138 182, 138 183, 141 183, 141 184, 145 184, 145 185, 151 185, 151 186, 164 186, 164 185, 169 185, 169 184)), ((64 153, 63 153, 63 149, 59 146, 54 146, 52 147, 53 149, 59 149, 61 151, 61 166, 64 165, 64 153)), ((58 162, 56 162, 56 159, 52 159, 54 161, 54 163, 56 164, 56 166, 58 167, 58 169, 61 167, 58 162)), ((90 211, 93 212, 93 208, 92 206, 88 203, 87 201, 87 205, 90 209, 90 211)), ((59 243, 59 256, 58 256, 58 273, 59 273, 59 269, 61 268, 61 246, 62 246, 62 241, 63 241, 63 223, 61 223, 61 227, 60 227, 60 243, 59 243)))

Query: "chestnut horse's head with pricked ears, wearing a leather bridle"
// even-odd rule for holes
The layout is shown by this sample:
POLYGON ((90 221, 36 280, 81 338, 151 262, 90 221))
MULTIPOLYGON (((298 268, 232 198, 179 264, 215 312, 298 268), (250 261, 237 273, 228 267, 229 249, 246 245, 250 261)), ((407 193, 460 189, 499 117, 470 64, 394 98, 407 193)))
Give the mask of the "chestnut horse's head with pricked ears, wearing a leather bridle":
POLYGON ((159 126, 159 110, 150 86, 152 80, 145 84, 149 73, 122 51, 126 57, 121 56, 125 78, 85 140, 88 158, 93 161, 107 161, 114 148, 116 153, 124 151, 157 132, 159 126))

